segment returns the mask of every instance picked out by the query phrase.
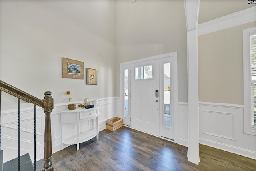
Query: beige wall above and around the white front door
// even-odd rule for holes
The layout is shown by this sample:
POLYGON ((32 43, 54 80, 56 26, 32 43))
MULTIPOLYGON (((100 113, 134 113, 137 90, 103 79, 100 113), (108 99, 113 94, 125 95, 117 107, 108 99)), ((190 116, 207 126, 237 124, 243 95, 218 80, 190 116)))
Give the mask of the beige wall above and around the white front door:
MULTIPOLYGON (((187 32, 184 1, 116 1, 116 67, 178 52, 178 101, 187 102, 187 32)), ((119 94, 119 72, 116 73, 119 94)))

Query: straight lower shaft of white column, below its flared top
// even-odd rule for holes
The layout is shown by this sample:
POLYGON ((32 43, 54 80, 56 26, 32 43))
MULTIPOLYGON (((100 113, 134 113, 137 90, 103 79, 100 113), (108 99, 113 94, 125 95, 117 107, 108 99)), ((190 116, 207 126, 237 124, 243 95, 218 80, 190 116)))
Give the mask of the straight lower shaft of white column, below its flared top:
POLYGON ((188 161, 199 163, 197 30, 188 32, 188 161))

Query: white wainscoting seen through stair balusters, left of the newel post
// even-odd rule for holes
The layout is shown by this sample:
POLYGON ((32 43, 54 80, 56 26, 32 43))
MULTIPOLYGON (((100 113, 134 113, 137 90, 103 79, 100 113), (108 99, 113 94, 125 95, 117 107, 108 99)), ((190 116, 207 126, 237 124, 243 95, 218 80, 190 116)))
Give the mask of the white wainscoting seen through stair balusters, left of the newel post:
MULTIPOLYGON (((44 113, 42 108, 36 109, 36 158, 44 157, 44 113)), ((20 116, 20 154, 29 153, 34 160, 34 107, 21 109, 20 116)), ((1 112, 1 149, 4 151, 3 161, 18 157, 18 110, 1 112)))

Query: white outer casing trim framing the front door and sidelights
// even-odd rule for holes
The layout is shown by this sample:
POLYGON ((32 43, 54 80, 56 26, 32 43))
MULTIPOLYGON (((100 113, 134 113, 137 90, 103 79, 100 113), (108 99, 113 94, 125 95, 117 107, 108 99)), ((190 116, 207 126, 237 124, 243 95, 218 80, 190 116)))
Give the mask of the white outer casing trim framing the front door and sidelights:
MULTIPOLYGON (((166 53, 166 54, 161 54, 161 55, 156 55, 156 56, 151 56, 151 57, 147 57, 147 58, 141 58, 138 60, 132 60, 132 61, 128 61, 128 62, 122 62, 120 63, 120 103, 121 103, 121 113, 123 113, 124 111, 124 89, 122 89, 122 85, 123 85, 123 75, 121 73, 122 72, 122 68, 125 65, 128 64, 134 64, 134 63, 138 63, 138 62, 145 62, 145 61, 149 61, 149 60, 156 60, 156 59, 160 59, 160 58, 165 58, 165 57, 171 57, 173 58, 173 72, 174 72, 174 78, 173 78, 173 95, 174 95, 174 101, 173 101, 173 107, 174 107, 174 142, 178 143, 178 60, 177 60, 177 51, 176 52, 170 52, 170 53, 166 53)), ((130 82, 129 82, 130 84, 130 82)), ((129 86, 130 87, 130 86, 129 86)), ((130 104, 130 101, 129 101, 130 104)), ((130 109, 129 109, 130 112, 130 109)), ((124 116, 121 114, 121 118, 123 118, 124 116)), ((129 117, 130 117, 130 113, 129 113, 129 117)))

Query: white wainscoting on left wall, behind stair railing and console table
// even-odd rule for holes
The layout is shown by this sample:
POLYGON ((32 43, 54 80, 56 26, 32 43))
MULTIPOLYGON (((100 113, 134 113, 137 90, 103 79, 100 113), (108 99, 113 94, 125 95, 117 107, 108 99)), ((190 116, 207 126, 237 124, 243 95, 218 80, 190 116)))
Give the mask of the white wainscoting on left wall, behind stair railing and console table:
MULTIPOLYGON (((119 97, 109 97, 98 99, 100 104, 99 128, 100 131, 106 128, 106 120, 117 116, 116 111, 119 97)), ((91 102, 93 99, 89 99, 91 102)), ((82 104, 84 101, 76 101, 76 104, 82 104)), ((52 125, 52 153, 61 149, 61 114, 60 111, 67 109, 68 103, 54 104, 51 113, 52 125)), ((85 109, 86 110, 86 109, 85 109)), ((9 161, 18 157, 18 131, 17 118, 18 110, 1 111, 1 149, 4 151, 3 161, 9 161)), ((36 109, 36 160, 44 158, 44 124, 45 114, 43 109, 36 109)), ((30 158, 34 158, 34 107, 21 109, 21 155, 29 153, 30 158)))

